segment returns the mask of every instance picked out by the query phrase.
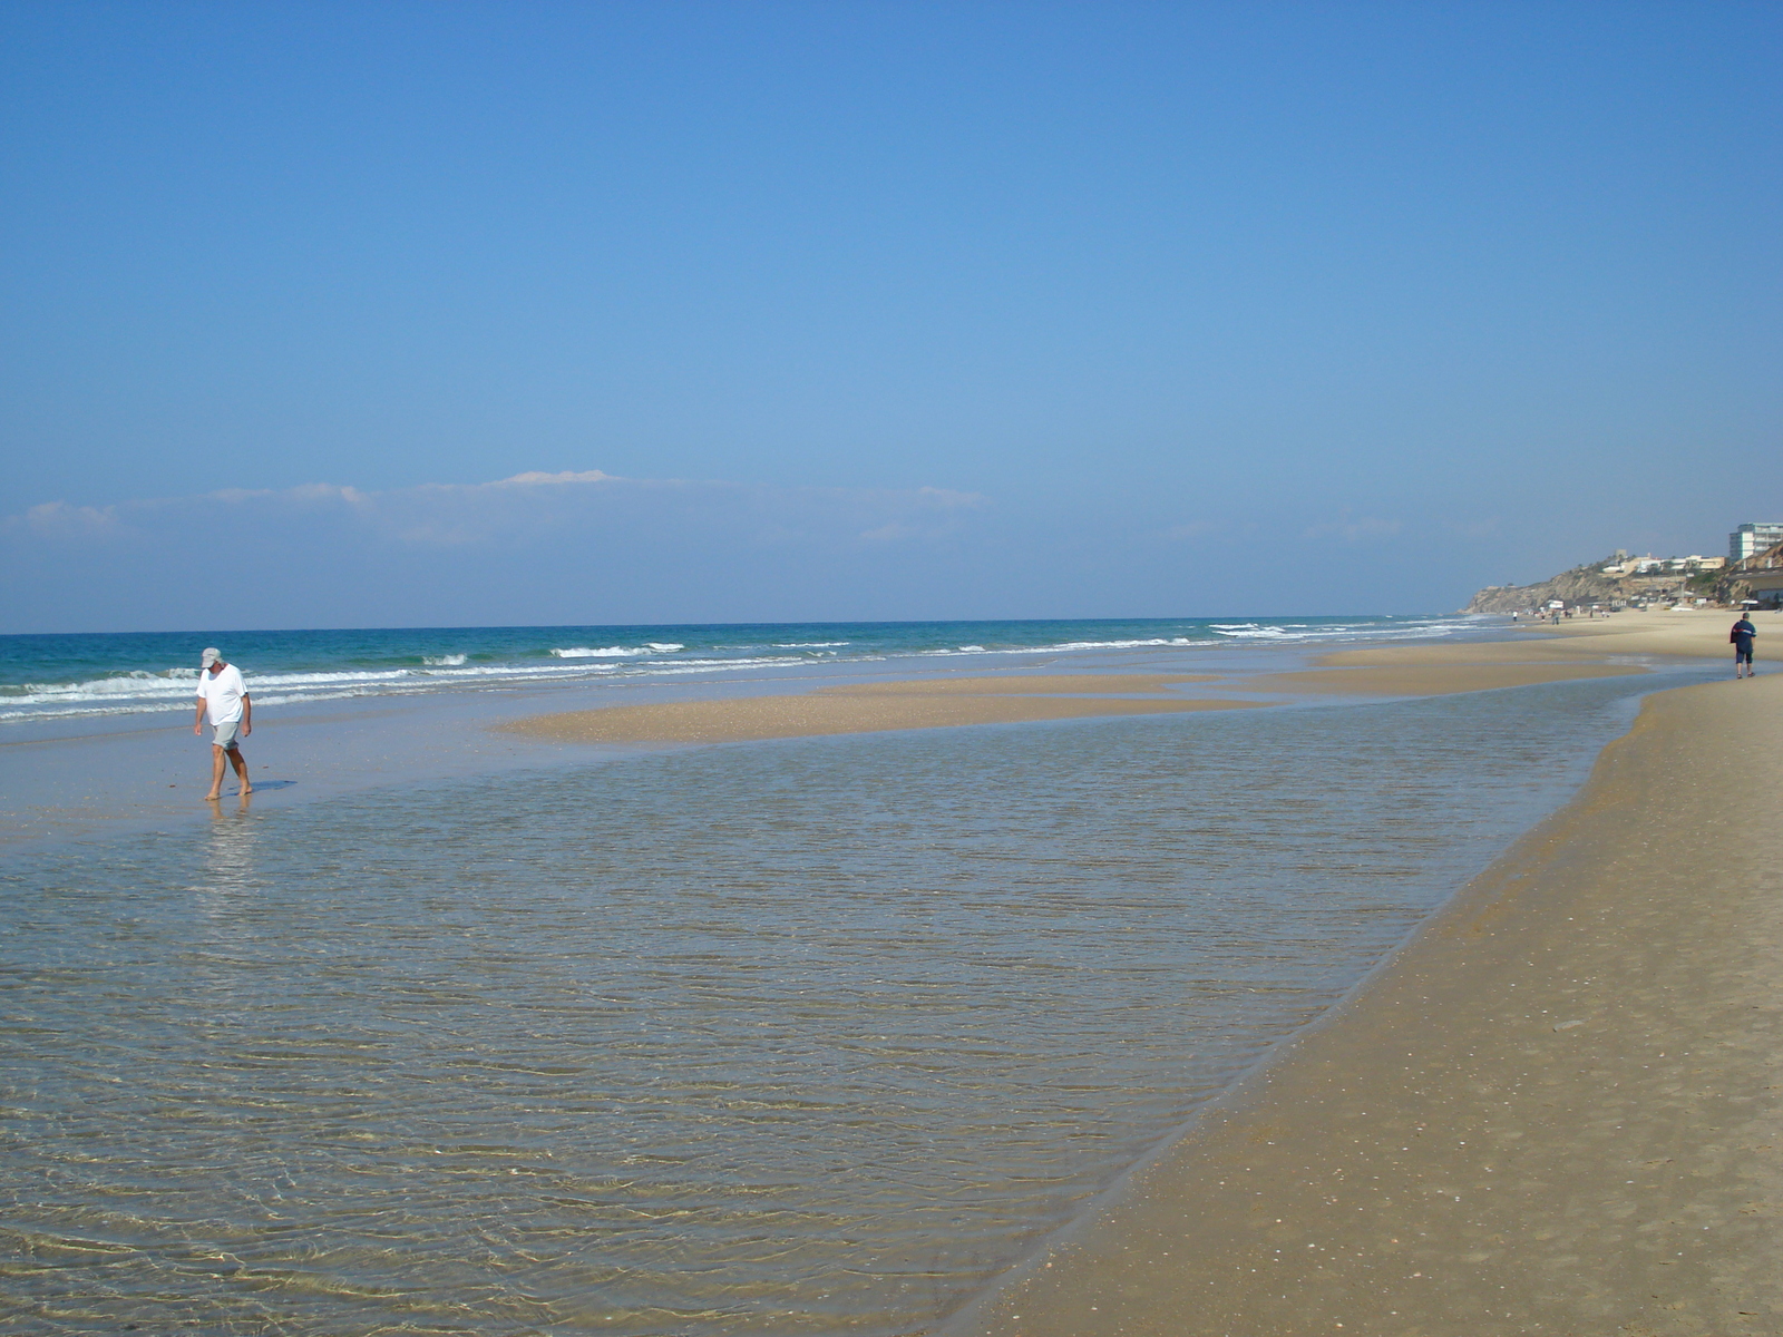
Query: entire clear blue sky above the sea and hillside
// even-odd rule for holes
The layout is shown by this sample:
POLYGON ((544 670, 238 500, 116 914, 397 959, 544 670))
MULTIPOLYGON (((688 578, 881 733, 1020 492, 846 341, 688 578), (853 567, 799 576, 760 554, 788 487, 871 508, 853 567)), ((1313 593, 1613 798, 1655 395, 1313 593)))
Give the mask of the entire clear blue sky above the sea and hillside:
POLYGON ((1771 4, 14 4, 0 631, 1722 551, 1783 519, 1778 68, 1771 4))

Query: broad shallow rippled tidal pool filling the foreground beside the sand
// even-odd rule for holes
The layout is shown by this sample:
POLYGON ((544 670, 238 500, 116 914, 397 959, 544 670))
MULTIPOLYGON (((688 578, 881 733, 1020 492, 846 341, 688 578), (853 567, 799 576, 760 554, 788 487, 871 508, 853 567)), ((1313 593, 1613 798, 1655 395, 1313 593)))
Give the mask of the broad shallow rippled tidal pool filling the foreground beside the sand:
POLYGON ((0 865, 0 1326, 915 1333, 1653 679, 785 740, 0 865))

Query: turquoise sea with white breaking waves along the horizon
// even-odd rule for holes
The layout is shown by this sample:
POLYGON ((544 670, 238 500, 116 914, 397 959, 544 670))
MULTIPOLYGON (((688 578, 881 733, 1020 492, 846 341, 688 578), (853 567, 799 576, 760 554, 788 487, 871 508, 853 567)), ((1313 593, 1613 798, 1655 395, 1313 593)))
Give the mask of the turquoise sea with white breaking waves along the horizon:
POLYGON ((760 626, 396 627, 0 636, 0 724, 191 710, 218 645, 260 706, 341 697, 686 677, 902 656, 1009 663, 1095 649, 1319 645, 1444 636, 1478 619, 1143 619, 760 626))

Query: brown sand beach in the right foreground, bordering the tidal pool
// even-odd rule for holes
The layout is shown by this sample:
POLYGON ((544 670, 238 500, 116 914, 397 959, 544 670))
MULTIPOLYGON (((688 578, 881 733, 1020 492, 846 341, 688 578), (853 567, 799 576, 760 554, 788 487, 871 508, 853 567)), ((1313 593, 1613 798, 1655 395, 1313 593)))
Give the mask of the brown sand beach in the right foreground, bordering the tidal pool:
POLYGON ((1649 697, 1573 804, 945 1332, 1783 1332, 1779 786, 1783 676, 1649 697))

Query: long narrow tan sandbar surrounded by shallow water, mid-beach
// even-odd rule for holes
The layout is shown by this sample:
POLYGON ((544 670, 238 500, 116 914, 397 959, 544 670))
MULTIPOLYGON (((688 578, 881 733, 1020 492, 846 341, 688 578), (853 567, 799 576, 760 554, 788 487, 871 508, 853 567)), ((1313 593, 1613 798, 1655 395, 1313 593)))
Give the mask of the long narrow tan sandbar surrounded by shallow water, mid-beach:
POLYGON ((1261 704, 1159 695, 1171 685, 1204 681, 1209 679, 1163 674, 943 677, 826 686, 802 695, 608 706, 563 715, 537 715, 503 727, 556 743, 736 743, 883 729, 940 729, 963 724, 1253 710, 1261 704), (1080 695, 1091 692, 1134 695, 1080 695))

